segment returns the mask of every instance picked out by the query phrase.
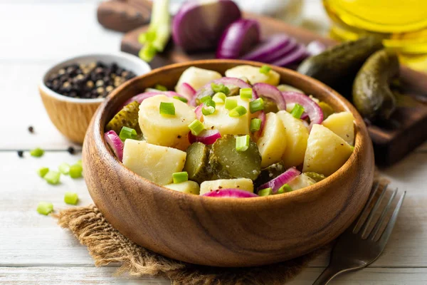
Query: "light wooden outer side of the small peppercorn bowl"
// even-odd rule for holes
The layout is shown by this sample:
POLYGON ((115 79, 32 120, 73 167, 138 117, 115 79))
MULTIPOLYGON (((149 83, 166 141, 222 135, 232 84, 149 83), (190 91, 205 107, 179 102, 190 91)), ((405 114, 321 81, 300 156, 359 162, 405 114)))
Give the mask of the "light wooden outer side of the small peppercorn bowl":
POLYGON ((79 103, 70 100, 60 100, 38 88, 46 112, 53 125, 65 138, 82 144, 86 130, 100 102, 79 103), (66 116, 64 114, 67 114, 66 116))

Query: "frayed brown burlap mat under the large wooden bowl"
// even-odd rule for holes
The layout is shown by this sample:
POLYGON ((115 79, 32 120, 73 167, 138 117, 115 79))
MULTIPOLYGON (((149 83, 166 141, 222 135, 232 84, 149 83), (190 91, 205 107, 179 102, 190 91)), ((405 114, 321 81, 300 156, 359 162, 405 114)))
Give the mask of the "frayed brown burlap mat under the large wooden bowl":
POLYGON ((119 262, 117 274, 162 276, 172 284, 279 285, 300 273, 308 261, 324 249, 290 261, 250 268, 218 268, 188 264, 139 247, 107 222, 95 205, 74 207, 56 215, 60 227, 70 229, 88 247, 95 266, 119 262))

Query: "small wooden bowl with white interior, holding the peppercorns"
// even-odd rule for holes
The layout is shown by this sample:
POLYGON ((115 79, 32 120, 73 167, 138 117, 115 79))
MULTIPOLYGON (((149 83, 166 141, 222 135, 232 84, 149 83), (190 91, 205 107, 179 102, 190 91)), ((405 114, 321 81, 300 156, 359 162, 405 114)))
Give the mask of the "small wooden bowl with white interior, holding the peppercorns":
POLYGON ((80 99, 66 97, 49 89, 45 82, 51 74, 56 73, 64 66, 73 63, 91 63, 93 61, 101 61, 107 64, 115 62, 118 66, 134 72, 137 76, 151 71, 149 65, 137 58, 137 56, 120 52, 75 56, 56 64, 44 74, 38 86, 38 91, 41 95, 41 100, 43 100, 46 112, 60 133, 69 140, 79 144, 83 143, 90 119, 92 119, 95 110, 105 98, 80 99))

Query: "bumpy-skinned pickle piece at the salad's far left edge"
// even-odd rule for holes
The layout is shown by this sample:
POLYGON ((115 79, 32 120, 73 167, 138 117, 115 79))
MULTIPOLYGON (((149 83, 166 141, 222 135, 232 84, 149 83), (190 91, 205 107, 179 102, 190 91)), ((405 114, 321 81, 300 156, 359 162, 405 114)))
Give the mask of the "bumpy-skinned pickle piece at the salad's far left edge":
POLYGON ((132 128, 141 133, 138 123, 139 103, 137 101, 129 103, 115 114, 114 118, 110 120, 105 126, 105 130, 114 130, 117 135, 123 127, 132 128))

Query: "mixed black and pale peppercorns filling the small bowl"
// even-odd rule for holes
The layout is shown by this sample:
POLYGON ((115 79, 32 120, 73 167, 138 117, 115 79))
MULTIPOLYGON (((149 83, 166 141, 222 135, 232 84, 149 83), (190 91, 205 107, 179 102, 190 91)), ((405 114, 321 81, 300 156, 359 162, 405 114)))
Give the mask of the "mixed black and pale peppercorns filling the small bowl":
POLYGON ((135 76, 117 63, 97 61, 65 66, 48 78, 46 86, 70 98, 105 98, 115 87, 135 76))

